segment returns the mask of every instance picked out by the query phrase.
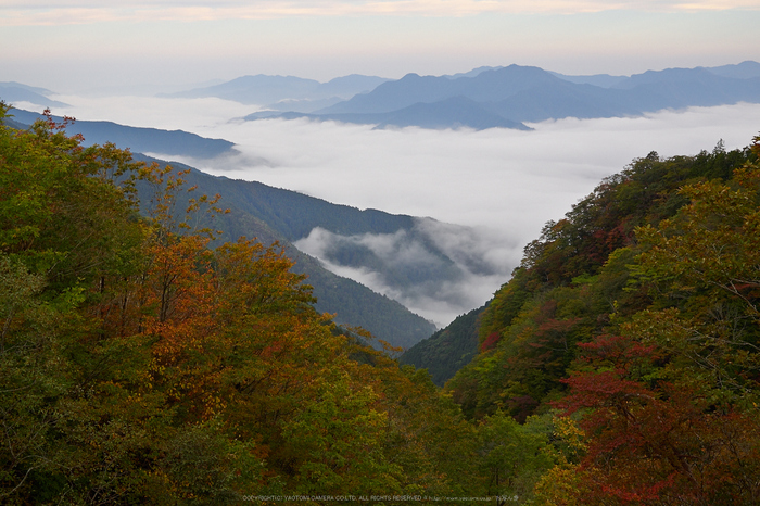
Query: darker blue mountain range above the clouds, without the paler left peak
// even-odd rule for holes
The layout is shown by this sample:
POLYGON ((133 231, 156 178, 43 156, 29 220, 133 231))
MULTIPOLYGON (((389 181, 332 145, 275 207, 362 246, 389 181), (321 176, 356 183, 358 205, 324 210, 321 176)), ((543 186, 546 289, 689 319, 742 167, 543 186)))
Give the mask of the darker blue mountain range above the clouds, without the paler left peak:
POLYGON ((527 128, 524 123, 545 119, 637 116, 663 109, 743 101, 760 102, 758 63, 719 67, 717 73, 709 68, 649 71, 628 78, 558 77, 539 67, 509 65, 472 77, 408 74, 311 117, 368 123, 366 115, 373 114, 382 126, 527 128), (452 106, 453 100, 459 101, 458 106, 452 106), (402 112, 403 121, 397 121, 402 112), (435 121, 430 122, 431 117, 435 121))

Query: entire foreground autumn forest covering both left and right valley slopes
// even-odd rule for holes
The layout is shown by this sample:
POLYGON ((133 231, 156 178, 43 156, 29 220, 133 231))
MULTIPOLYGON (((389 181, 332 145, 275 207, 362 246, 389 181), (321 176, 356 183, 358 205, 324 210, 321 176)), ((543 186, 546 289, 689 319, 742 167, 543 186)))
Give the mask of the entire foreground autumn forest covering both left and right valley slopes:
POLYGON ((2 125, 0 502, 757 504, 759 154, 603 181, 460 322, 478 354, 440 390, 276 244, 212 245, 224 206, 183 174, 2 125))

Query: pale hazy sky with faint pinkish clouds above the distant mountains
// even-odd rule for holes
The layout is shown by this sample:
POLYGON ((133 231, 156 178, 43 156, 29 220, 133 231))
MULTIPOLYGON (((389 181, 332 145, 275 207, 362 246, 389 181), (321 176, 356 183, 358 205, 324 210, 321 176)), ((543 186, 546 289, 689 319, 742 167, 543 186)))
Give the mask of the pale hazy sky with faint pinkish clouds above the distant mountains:
POLYGON ((0 0, 0 81, 145 92, 481 65, 622 74, 758 60, 757 0, 0 0))

